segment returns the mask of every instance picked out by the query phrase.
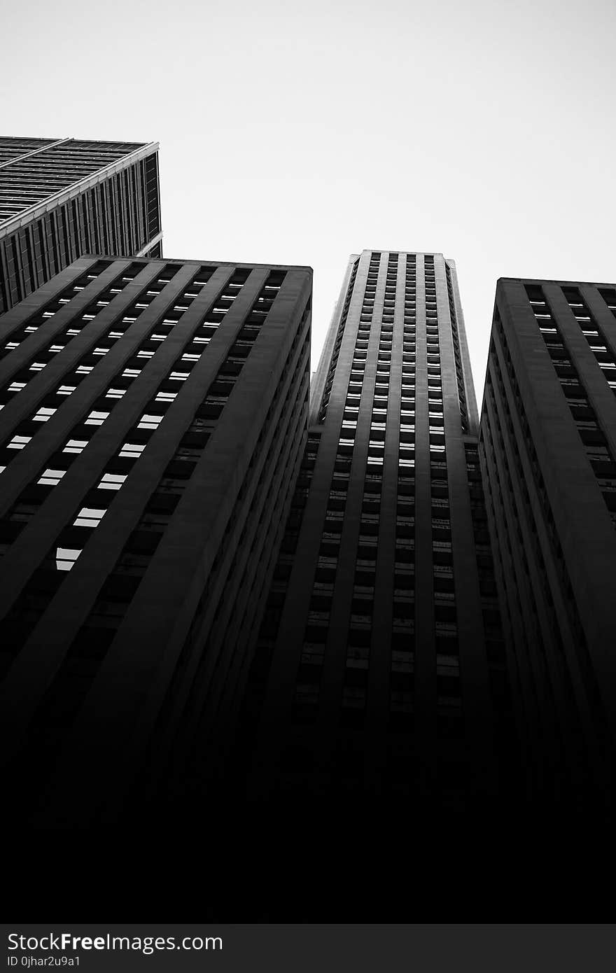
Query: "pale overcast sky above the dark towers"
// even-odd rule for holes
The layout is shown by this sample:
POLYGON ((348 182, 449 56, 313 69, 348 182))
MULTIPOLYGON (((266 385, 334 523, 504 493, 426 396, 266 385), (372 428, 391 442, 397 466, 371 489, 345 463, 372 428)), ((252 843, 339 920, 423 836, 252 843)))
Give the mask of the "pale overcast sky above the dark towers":
POLYGON ((478 395, 499 276, 613 281, 614 0, 0 0, 3 134, 159 141, 164 255, 457 264, 478 395))

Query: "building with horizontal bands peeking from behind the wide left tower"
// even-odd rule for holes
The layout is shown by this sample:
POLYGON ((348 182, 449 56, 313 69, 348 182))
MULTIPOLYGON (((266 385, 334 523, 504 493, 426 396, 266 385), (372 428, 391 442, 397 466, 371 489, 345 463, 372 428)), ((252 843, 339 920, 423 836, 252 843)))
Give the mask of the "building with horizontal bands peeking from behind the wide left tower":
POLYGON ((84 254, 162 256, 158 149, 0 137, 0 314, 84 254))

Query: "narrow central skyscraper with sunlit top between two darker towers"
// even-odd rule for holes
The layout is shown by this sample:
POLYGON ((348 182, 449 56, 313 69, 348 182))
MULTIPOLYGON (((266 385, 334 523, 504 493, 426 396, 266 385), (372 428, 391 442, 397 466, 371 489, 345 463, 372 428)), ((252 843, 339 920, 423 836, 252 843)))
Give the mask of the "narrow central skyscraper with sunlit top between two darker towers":
POLYGON ((447 812, 498 792, 507 680, 477 427, 453 261, 351 257, 244 706, 256 803, 447 812))

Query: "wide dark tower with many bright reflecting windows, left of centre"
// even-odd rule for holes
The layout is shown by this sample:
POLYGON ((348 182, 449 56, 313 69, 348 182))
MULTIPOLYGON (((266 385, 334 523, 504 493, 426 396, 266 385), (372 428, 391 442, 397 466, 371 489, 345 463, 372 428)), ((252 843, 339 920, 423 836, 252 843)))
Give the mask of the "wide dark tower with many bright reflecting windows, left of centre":
POLYGON ((306 443, 310 298, 308 268, 82 258, 0 319, 24 817, 114 820, 177 752, 224 759, 306 443))

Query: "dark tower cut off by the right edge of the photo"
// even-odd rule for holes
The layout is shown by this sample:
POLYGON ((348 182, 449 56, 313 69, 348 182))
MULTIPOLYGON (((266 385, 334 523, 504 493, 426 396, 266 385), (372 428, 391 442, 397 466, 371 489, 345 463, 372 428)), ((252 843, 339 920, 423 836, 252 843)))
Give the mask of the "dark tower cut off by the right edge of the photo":
POLYGON ((496 287, 481 461, 525 800, 552 826, 613 813, 615 316, 613 284, 496 287))

